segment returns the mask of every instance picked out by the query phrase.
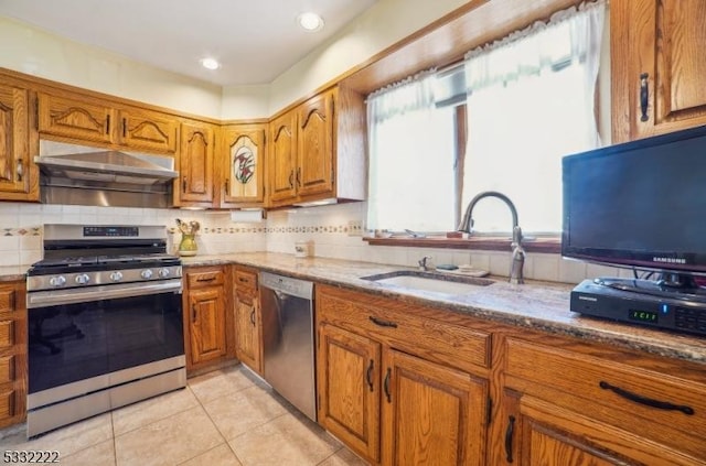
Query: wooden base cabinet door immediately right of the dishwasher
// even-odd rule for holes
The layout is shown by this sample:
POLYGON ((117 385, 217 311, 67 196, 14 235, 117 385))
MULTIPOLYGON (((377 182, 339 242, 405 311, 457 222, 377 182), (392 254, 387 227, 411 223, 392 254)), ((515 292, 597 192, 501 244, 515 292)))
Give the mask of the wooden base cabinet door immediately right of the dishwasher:
POLYGON ((321 324, 319 423, 361 456, 379 462, 379 344, 321 324))

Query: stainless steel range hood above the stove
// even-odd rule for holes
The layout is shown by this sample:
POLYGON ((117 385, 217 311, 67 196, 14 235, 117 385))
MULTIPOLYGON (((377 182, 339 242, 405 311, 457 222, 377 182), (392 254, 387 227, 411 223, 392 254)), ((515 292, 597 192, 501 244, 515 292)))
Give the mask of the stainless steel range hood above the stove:
POLYGON ((172 156, 40 141, 40 197, 45 204, 169 207, 172 156))

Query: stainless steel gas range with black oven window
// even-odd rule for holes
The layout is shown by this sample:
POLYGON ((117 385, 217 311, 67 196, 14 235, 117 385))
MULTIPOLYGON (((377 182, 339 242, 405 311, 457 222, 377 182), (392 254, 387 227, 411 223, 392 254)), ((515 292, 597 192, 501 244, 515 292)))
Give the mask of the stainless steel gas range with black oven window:
POLYGON ((28 436, 185 387, 163 226, 45 225, 26 279, 28 436))

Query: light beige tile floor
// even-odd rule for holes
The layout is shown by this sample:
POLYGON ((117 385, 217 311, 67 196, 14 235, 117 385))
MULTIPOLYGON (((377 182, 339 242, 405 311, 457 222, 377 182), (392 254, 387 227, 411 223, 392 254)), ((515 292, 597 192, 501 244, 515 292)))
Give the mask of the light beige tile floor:
POLYGON ((23 424, 1 430, 7 449, 58 451, 69 466, 365 465, 243 366, 29 442, 23 424))

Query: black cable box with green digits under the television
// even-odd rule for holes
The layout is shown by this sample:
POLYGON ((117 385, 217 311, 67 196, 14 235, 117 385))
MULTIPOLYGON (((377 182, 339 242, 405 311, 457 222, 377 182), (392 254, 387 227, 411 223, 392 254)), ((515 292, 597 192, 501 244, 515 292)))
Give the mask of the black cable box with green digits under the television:
POLYGON ((706 335, 703 295, 616 283, 619 282, 584 280, 571 291, 570 310, 611 321, 706 335))

